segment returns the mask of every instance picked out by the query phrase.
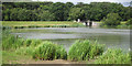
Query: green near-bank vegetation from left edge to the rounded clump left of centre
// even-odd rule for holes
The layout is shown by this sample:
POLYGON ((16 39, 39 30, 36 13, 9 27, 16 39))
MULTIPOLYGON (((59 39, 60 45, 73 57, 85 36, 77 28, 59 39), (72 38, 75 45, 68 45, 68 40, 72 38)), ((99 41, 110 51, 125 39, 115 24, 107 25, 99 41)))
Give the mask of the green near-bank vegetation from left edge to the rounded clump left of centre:
MULTIPOLYGON (((6 32, 6 31, 3 31, 6 32)), ((6 32, 7 33, 7 32, 6 32)), ((67 59, 67 52, 62 45, 41 40, 23 40, 7 33, 3 35, 3 51, 13 51, 19 55, 33 56, 38 59, 67 59)))

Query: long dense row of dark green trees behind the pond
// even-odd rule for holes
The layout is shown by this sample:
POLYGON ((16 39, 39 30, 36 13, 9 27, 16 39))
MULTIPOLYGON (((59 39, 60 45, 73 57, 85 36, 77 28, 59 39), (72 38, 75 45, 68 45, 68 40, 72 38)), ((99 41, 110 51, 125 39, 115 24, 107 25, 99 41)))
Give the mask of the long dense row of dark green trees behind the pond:
POLYGON ((101 21, 109 13, 117 13, 121 21, 132 18, 132 7, 111 2, 3 2, 3 21, 101 21))

